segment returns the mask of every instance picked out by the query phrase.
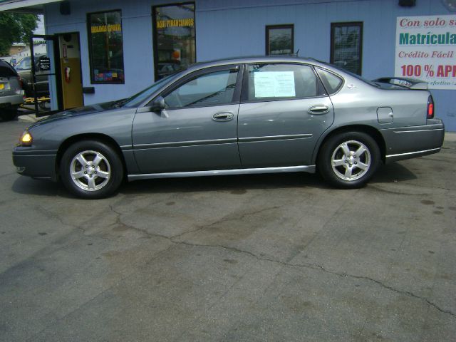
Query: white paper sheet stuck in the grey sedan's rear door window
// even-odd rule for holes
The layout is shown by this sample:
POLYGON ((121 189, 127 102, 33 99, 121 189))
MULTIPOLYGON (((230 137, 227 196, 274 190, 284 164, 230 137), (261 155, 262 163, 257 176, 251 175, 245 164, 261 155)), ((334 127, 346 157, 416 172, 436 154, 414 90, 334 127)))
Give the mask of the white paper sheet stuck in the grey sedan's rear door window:
POLYGON ((289 98, 296 96, 293 71, 254 73, 256 98, 289 98))

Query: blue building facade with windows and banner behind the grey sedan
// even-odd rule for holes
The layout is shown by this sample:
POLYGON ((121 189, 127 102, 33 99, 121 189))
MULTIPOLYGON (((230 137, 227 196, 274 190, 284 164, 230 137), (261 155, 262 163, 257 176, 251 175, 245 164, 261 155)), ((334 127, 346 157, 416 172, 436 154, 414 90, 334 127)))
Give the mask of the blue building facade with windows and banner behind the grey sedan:
POLYGON ((42 9, 46 34, 59 37, 50 54, 60 55, 63 88, 78 78, 85 105, 133 95, 188 63, 297 52, 368 79, 425 78, 437 117, 456 131, 453 0, 22 2, 42 9))

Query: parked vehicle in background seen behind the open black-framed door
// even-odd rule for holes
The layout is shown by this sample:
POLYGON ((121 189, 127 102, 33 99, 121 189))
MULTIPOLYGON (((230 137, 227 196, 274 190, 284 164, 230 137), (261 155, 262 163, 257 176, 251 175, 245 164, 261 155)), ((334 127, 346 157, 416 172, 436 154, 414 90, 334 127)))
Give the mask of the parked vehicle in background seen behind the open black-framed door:
MULTIPOLYGON (((40 65, 43 58, 48 58, 46 55, 36 55, 35 60, 35 70, 36 70, 36 95, 38 97, 48 96, 49 95, 49 76, 47 73, 49 71, 41 71, 40 65)), ((31 77, 31 57, 26 56, 22 58, 16 66, 14 66, 16 71, 21 77, 23 87, 26 93, 27 98, 32 98, 33 94, 33 79, 31 77)))

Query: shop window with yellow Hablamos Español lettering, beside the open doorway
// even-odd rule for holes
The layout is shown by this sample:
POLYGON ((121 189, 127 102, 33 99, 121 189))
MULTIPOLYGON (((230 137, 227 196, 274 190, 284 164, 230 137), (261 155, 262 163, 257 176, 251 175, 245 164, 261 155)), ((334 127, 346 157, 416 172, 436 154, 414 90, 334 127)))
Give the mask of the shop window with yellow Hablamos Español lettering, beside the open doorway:
POLYGON ((122 13, 87 15, 92 83, 124 83, 122 13))

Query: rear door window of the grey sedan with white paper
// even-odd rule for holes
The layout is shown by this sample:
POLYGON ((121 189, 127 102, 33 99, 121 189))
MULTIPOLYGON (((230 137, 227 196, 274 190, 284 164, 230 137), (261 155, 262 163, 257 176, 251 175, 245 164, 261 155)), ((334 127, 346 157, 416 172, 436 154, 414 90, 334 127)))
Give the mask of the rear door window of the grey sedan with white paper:
POLYGON ((286 100, 318 95, 316 75, 298 64, 249 65, 247 100, 286 100))

